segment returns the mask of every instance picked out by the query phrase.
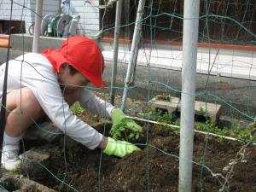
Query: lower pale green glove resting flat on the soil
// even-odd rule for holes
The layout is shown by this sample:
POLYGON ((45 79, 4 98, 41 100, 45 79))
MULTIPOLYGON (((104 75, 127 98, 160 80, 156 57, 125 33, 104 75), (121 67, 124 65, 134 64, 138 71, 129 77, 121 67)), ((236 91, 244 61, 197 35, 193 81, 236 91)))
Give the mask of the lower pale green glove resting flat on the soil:
POLYGON ((133 151, 137 150, 140 150, 140 148, 137 148, 134 144, 125 141, 117 141, 108 137, 108 144, 103 150, 103 153, 117 157, 124 157, 126 154, 131 154, 133 151))

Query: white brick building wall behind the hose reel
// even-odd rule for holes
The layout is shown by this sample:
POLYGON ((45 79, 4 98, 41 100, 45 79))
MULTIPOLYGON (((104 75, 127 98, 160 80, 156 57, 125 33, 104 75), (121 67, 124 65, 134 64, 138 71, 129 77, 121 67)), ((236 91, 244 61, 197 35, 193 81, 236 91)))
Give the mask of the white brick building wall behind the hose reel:
MULTIPOLYGON (((71 0, 73 15, 80 15, 77 33, 94 35, 99 32, 99 0, 71 0)), ((11 1, 0 0, 0 20, 10 20, 11 1)), ((43 0, 43 15, 58 14, 59 0, 43 0)), ((26 33, 36 12, 36 0, 15 0, 12 20, 25 20, 26 33), (23 8, 23 6, 25 6, 23 8)))

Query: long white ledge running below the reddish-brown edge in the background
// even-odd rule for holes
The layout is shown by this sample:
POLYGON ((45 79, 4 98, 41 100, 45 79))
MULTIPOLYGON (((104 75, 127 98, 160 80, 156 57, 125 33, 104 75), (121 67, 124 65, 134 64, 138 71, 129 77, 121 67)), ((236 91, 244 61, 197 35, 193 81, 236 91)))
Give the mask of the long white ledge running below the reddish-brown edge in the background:
MULTIPOLYGON (((105 60, 113 61, 113 50, 103 51, 105 60)), ((130 51, 119 50, 119 62, 128 63, 130 51)), ((166 68, 180 71, 182 69, 182 50, 140 49, 137 63, 141 66, 166 68)), ((198 49, 197 73, 223 77, 256 80, 256 52, 232 50, 228 53, 212 49, 198 49)))

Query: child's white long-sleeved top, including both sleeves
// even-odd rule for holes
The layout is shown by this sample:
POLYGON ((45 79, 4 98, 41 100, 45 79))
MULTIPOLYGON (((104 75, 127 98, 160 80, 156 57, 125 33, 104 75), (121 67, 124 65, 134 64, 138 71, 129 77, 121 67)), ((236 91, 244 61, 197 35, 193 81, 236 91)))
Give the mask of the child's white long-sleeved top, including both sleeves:
MULTIPOLYGON (((5 63, 0 66, 0 97, 3 95, 5 63)), ((27 53, 9 61, 8 92, 28 87, 51 121, 67 136, 90 149, 102 142, 102 134, 79 119, 64 101, 57 74, 44 55, 27 53)), ((84 89, 80 105, 92 113, 109 118, 113 106, 84 89)))

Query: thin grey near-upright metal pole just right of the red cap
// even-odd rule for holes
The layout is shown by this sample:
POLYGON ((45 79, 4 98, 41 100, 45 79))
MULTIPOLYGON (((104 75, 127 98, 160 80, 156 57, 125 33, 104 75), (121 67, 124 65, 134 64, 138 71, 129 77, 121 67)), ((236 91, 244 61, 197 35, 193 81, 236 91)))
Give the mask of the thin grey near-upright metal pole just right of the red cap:
POLYGON ((116 4, 115 10, 115 28, 114 28, 114 39, 113 39, 113 67, 110 87, 110 102, 114 105, 114 86, 116 82, 116 71, 117 62, 119 56, 119 34, 120 34, 120 22, 122 16, 122 3, 123 0, 119 0, 116 4))

